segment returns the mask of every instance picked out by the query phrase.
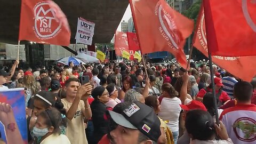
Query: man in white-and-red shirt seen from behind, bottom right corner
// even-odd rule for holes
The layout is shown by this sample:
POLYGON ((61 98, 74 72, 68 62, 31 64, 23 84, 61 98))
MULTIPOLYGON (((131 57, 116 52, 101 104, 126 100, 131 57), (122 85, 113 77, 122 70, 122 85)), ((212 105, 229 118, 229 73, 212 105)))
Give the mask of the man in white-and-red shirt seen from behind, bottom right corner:
POLYGON ((220 115, 220 120, 234 143, 256 143, 256 105, 251 104, 252 93, 253 87, 250 83, 236 83, 234 97, 237 105, 223 110, 220 115))

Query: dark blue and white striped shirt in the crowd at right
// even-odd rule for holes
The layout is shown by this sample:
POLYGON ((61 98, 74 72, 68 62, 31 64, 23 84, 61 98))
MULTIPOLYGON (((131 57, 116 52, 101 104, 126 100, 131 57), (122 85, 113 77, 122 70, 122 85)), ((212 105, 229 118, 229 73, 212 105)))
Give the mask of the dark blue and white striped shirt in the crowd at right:
POLYGON ((229 98, 234 99, 233 91, 234 91, 234 85, 237 83, 236 79, 234 77, 223 77, 222 78, 222 84, 223 84, 223 91, 225 91, 229 98))

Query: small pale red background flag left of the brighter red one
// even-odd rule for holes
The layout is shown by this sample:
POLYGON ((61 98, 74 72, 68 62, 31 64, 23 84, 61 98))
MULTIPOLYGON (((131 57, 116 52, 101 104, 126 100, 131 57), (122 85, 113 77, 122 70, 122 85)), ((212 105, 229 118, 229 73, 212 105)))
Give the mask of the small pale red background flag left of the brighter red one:
POLYGON ((126 33, 116 31, 115 34, 115 50, 116 55, 122 56, 123 51, 129 52, 128 40, 126 33))

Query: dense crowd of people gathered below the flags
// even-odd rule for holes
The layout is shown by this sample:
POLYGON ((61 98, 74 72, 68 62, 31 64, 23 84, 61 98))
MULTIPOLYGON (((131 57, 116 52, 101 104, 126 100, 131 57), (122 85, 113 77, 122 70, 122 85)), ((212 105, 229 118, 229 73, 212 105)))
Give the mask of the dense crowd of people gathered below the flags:
POLYGON ((209 67, 193 62, 18 65, 0 70, 0 91, 25 88, 28 143, 256 143, 256 78, 213 65, 213 87, 209 67))

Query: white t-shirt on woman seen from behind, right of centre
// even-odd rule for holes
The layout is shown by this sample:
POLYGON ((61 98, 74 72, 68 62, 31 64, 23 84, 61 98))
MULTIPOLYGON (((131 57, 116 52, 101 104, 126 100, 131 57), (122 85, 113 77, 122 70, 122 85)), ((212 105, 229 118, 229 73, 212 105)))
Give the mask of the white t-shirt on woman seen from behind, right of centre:
POLYGON ((170 127, 172 132, 179 131, 179 116, 181 111, 181 101, 179 98, 163 98, 161 102, 161 111, 158 116, 164 121, 169 121, 167 126, 170 127))

